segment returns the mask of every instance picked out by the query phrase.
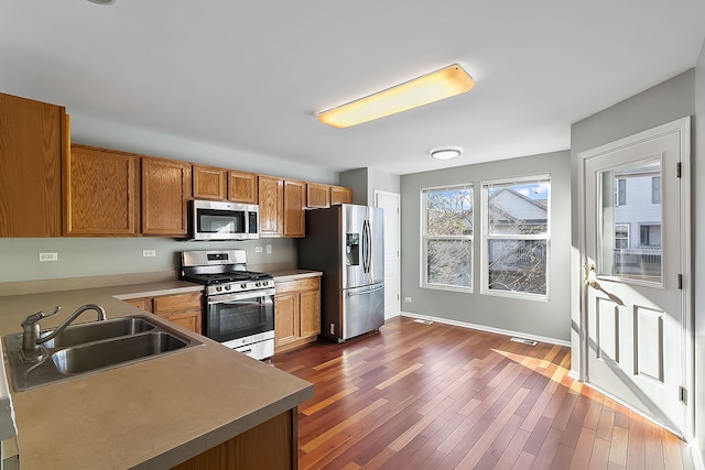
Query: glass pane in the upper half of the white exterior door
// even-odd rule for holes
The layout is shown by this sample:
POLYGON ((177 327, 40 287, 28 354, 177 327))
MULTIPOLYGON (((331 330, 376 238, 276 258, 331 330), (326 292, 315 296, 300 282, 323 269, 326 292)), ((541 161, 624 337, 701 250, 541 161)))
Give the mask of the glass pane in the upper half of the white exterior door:
POLYGON ((661 282, 661 161, 603 172, 600 274, 661 282), (614 204, 612 188, 629 187, 614 204), (630 233, 629 227, 633 227, 630 233))

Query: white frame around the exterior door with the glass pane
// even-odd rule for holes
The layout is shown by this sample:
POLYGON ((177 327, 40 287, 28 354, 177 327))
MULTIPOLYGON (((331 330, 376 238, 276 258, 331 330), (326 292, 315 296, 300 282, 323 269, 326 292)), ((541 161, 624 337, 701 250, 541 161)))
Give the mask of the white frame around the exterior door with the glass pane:
MULTIPOLYGON (((584 283, 584 266, 587 265, 586 259, 586 195, 585 195, 585 164, 586 161, 596 156, 600 156, 605 153, 615 152, 620 149, 629 147, 639 144, 644 141, 649 141, 665 134, 677 132, 680 134, 680 152, 681 152, 681 193, 680 193, 680 206, 681 206, 681 232, 679 234, 681 243, 680 254, 680 271, 683 275, 683 288, 681 294, 681 309, 684 318, 684 341, 682 351, 682 376, 683 386, 686 390, 685 401, 685 419, 683 424, 683 434, 686 441, 692 441, 694 438, 694 423, 695 423, 695 407, 694 407, 694 318, 693 318, 693 297, 692 297, 692 284, 693 284, 693 270, 692 270, 692 244, 691 244, 691 117, 685 117, 653 129, 649 129, 643 132, 639 132, 629 135, 623 139, 600 145, 595 149, 579 152, 577 157, 577 197, 578 197, 578 260, 579 264, 576 266, 579 271, 576 275, 575 288, 579 289, 579 360, 577 361, 578 378, 582 382, 590 385, 589 371, 588 371, 588 306, 587 306, 587 286, 584 283)), ((575 351, 574 351, 575 352, 575 351)), ((615 401, 625 404, 619 401, 619 397, 612 396, 615 401)), ((636 411, 634 411, 636 412, 636 411)), ((636 412, 638 413, 638 412, 636 412)), ((646 417, 648 418, 648 417, 646 417)), ((649 419, 649 418, 648 418, 649 419)), ((651 420, 651 419, 650 419, 651 420)), ((657 423, 661 425, 661 423, 657 423)))

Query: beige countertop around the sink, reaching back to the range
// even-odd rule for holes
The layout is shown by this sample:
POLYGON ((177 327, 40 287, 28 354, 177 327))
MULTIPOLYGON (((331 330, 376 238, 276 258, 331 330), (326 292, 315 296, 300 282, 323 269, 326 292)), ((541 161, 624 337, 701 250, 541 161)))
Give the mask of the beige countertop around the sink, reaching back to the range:
MULTIPOLYGON (((20 332, 26 315, 51 311, 55 305, 62 311, 43 320, 43 328, 57 325, 83 304, 101 305, 108 317, 129 316, 144 313, 116 297, 200 288, 165 281, 4 296, 0 297, 0 335, 20 332)), ((85 320, 90 314, 84 314, 85 320)), ((203 346, 11 392, 21 468, 169 468, 313 396, 308 382, 196 337, 203 346)), ((7 353, 4 359, 9 369, 7 353)))

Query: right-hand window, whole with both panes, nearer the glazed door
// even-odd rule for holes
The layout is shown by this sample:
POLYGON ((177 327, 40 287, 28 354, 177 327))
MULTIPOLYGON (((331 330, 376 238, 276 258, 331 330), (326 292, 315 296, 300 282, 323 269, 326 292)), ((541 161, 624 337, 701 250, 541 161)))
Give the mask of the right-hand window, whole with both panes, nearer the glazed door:
POLYGON ((551 179, 482 183, 482 292, 547 298, 551 179))

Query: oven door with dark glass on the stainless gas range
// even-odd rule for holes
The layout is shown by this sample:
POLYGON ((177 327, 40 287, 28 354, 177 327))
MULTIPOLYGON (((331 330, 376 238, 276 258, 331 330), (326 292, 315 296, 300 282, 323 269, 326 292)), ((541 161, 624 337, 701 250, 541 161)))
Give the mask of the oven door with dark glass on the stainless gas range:
POLYGON ((274 329, 274 296, 263 295, 208 306, 206 336, 219 342, 274 329))

